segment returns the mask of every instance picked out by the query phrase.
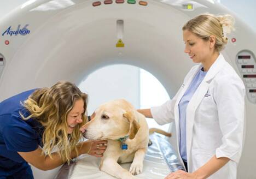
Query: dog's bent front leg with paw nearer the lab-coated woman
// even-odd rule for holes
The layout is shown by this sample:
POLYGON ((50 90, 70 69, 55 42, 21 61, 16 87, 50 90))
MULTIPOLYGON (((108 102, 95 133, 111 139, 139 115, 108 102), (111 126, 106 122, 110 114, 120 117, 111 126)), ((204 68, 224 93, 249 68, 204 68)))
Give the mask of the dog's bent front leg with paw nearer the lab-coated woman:
POLYGON ((136 151, 133 162, 130 167, 130 172, 132 175, 137 175, 142 172, 143 160, 146 154, 146 149, 139 149, 136 151))

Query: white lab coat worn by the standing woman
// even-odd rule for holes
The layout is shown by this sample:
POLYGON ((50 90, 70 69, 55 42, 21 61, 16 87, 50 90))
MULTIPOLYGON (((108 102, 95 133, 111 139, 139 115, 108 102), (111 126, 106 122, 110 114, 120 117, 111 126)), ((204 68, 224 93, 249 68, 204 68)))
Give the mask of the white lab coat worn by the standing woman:
MULTIPOLYGON (((178 104, 202 65, 191 68, 173 99, 151 108, 159 124, 175 120, 179 151, 178 104)), ((188 172, 204 165, 214 154, 228 162, 209 178, 236 178, 244 134, 245 86, 222 54, 212 64, 187 107, 188 172)), ((181 156, 178 152, 179 158, 181 156)), ((182 162, 182 159, 181 159, 182 162)), ((183 163, 183 162, 182 162, 183 163)))

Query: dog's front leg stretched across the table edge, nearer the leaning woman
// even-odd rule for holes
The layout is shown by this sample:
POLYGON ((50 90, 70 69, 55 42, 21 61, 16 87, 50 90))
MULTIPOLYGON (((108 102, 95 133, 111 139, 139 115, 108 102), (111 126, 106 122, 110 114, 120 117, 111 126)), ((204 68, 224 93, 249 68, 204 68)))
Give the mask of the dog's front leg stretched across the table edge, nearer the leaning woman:
POLYGON ((137 179, 129 171, 123 169, 114 158, 104 158, 101 161, 100 170, 121 179, 137 179))

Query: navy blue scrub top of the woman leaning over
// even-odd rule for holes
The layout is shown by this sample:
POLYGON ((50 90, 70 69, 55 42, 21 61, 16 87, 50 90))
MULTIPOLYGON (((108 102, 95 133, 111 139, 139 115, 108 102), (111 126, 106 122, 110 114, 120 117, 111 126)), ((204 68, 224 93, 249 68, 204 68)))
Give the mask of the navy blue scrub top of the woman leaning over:
POLYGON ((44 127, 34 118, 22 120, 30 112, 22 106, 36 89, 10 97, 0 103, 0 176, 11 175, 29 165, 18 152, 30 152, 42 145, 44 127))

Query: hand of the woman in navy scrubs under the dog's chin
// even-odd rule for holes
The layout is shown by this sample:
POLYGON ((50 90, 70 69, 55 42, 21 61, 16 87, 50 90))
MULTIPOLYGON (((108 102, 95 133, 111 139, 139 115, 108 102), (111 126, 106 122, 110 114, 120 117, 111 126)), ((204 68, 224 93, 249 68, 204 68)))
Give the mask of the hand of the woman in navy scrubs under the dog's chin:
POLYGON ((85 152, 94 157, 103 157, 103 153, 107 148, 107 140, 88 140, 85 141, 83 146, 85 146, 85 152))

